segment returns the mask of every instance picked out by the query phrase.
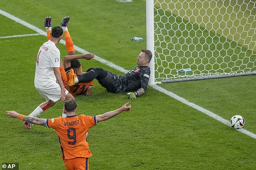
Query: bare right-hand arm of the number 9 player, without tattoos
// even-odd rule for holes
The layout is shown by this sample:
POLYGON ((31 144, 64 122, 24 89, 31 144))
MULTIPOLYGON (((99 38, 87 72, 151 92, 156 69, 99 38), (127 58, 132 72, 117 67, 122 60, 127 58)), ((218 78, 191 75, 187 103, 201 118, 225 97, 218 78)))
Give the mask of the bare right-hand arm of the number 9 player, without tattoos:
POLYGON ((131 105, 128 105, 128 103, 125 103, 122 107, 120 107, 119 109, 116 109, 115 111, 109 111, 107 113, 104 113, 103 115, 96 115, 96 121, 97 123, 110 119, 120 113, 122 113, 123 111, 130 111, 131 110, 131 105))

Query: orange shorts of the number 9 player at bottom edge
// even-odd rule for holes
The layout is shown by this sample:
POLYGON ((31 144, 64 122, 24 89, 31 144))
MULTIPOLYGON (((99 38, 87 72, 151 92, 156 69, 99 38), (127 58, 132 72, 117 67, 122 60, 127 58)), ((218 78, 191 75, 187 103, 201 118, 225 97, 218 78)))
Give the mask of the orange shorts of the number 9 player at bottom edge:
POLYGON ((64 160, 67 170, 89 170, 88 158, 74 158, 64 160))

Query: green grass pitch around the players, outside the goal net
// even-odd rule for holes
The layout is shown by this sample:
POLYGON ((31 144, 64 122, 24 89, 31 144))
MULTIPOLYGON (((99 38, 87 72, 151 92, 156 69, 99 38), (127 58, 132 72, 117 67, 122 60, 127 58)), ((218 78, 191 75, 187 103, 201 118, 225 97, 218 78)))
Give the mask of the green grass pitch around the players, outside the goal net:
MULTIPOLYGON (((124 67, 136 67, 136 57, 146 48, 145 0, 119 3, 117 0, 37 1, 1 0, 0 9, 44 30, 46 16, 59 25, 70 16, 68 29, 78 47, 124 67)), ((0 37, 34 34, 35 31, 0 15, 0 37)), ((25 129, 6 110, 29 115, 44 99, 34 88, 37 51, 45 36, 0 39, 0 164, 18 162, 20 170, 63 170, 58 136, 53 129, 33 126, 25 129)), ((66 47, 58 44, 61 56, 66 47)), ((83 69, 103 67, 120 71, 96 60, 82 60, 83 69)), ((205 109, 230 119, 242 115, 244 129, 256 133, 256 77, 244 76, 159 86, 205 109)), ((89 130, 93 154, 91 170, 254 170, 256 139, 148 87, 136 100, 125 94, 108 93, 97 81, 90 97, 77 96, 78 114, 98 115, 129 101, 132 111, 99 123, 89 130)), ((62 102, 40 118, 62 113, 62 102)))

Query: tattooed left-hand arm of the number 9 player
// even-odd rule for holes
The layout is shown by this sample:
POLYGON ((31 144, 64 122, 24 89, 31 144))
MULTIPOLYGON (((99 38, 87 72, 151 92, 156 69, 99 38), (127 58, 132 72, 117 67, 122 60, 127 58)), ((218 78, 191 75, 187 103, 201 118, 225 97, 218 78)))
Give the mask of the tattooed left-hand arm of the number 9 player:
POLYGON ((47 125, 46 125, 47 119, 39 119, 39 118, 32 117, 32 116, 21 115, 21 114, 17 113, 16 111, 6 111, 6 112, 7 112, 7 115, 9 115, 12 118, 18 118, 18 119, 24 120, 28 123, 42 125, 44 127, 47 127, 47 125))

